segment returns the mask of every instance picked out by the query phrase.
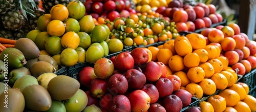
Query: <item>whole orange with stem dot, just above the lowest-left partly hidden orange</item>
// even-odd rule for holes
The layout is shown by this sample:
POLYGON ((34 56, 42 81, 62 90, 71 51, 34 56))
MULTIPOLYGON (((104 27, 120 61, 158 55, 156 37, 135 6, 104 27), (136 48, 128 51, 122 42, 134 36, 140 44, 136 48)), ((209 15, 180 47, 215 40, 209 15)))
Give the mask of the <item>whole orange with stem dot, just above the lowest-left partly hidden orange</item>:
POLYGON ((204 70, 199 66, 188 69, 187 77, 192 82, 198 83, 204 79, 204 76, 204 70))

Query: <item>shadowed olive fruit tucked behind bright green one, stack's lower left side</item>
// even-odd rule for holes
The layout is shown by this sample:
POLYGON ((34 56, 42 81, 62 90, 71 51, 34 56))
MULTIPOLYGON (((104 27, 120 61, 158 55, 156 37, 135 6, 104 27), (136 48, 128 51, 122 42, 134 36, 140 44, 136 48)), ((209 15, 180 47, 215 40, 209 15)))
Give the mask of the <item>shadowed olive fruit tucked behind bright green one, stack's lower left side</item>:
POLYGON ((39 48, 39 50, 45 50, 45 39, 51 37, 48 32, 40 32, 35 37, 35 44, 39 48))

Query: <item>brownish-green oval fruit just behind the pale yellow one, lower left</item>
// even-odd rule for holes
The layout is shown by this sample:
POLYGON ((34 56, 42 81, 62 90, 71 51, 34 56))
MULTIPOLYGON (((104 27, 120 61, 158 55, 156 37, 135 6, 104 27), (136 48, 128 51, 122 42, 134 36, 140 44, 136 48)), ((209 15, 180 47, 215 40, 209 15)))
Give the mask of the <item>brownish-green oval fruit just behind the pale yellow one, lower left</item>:
POLYGON ((44 73, 55 73, 56 69, 49 62, 38 61, 31 66, 30 71, 34 77, 39 77, 41 74, 44 73))

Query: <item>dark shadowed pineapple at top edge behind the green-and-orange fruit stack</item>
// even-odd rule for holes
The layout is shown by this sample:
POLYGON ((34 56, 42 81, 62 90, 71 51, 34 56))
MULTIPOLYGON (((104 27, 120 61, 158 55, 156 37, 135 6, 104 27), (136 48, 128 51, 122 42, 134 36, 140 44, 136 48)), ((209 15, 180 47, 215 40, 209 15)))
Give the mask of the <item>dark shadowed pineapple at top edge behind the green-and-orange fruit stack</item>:
POLYGON ((42 0, 42 7, 46 13, 50 14, 51 8, 57 4, 68 6, 71 1, 75 0, 42 0))

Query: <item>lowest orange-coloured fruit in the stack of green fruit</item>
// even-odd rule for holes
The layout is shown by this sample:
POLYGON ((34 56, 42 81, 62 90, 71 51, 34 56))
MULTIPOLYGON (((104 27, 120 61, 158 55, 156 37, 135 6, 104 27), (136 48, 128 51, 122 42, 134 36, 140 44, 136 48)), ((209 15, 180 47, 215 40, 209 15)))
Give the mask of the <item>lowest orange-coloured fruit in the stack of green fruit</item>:
POLYGON ((67 32, 61 38, 61 45, 63 48, 76 49, 79 46, 80 38, 75 32, 67 32))

